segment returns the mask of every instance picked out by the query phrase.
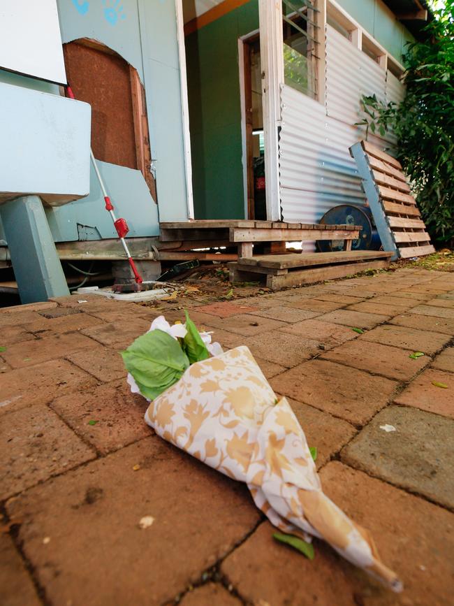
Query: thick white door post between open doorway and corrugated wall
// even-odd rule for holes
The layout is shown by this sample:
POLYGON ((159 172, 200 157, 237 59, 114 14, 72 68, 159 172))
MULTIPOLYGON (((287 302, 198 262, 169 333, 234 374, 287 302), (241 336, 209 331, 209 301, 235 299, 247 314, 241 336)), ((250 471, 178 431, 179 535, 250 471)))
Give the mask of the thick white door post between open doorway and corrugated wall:
POLYGON ((260 24, 262 67, 266 215, 269 221, 279 221, 281 219, 279 127, 281 125, 281 85, 284 84, 281 1, 258 0, 258 22, 260 24))

